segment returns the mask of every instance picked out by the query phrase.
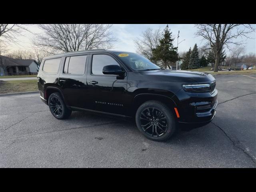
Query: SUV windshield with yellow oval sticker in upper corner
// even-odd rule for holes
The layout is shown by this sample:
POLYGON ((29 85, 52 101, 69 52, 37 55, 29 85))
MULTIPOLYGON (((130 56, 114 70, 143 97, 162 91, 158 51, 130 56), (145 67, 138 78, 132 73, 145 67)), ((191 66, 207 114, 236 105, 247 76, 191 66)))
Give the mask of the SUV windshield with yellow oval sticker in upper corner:
POLYGON ((136 71, 158 70, 156 64, 136 53, 115 53, 126 65, 136 71))

